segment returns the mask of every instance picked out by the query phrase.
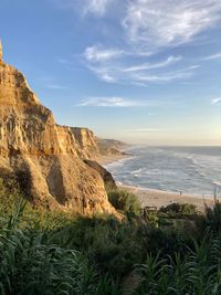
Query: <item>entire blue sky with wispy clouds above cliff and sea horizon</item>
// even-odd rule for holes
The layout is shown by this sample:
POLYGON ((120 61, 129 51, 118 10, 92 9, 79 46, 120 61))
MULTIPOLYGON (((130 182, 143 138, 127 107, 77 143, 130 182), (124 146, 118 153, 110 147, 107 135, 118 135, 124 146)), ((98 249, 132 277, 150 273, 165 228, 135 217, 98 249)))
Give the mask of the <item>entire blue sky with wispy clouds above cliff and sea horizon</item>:
POLYGON ((1 0, 3 59, 61 125, 221 146, 221 0, 1 0))

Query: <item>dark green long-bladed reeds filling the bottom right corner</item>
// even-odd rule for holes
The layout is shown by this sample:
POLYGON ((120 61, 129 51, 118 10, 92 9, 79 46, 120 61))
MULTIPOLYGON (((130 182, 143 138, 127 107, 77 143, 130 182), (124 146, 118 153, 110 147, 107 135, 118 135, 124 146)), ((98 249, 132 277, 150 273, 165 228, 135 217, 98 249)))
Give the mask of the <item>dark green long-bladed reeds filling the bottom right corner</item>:
POLYGON ((141 283, 134 294, 221 294, 221 236, 207 243, 194 242, 185 256, 148 255, 146 263, 136 267, 141 283))

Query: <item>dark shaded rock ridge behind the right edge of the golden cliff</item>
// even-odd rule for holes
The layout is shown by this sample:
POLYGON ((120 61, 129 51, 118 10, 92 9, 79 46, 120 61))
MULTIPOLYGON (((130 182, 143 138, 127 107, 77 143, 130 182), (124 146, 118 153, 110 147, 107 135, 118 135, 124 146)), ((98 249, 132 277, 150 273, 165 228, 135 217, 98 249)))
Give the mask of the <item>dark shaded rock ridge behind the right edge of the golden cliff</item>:
POLYGON ((113 176, 103 166, 93 160, 84 160, 84 162, 95 169, 101 175, 102 179, 104 180, 106 191, 117 189, 113 176))

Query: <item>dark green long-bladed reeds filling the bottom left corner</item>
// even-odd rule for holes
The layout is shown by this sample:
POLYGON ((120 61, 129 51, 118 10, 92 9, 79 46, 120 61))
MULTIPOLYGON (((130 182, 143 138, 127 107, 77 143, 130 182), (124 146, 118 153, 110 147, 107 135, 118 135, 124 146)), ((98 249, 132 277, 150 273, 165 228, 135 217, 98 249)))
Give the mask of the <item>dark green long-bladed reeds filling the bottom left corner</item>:
POLYGON ((53 244, 49 233, 19 229, 23 209, 20 203, 1 219, 0 294, 117 294, 78 251, 53 244))

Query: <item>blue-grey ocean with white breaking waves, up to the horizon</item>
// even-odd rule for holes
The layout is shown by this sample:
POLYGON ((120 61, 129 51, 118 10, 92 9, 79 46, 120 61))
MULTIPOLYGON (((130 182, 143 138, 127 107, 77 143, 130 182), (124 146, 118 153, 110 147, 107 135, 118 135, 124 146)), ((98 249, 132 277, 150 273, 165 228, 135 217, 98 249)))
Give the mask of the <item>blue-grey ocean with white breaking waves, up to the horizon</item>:
POLYGON ((105 166, 115 180, 203 197, 221 197, 221 147, 144 147, 126 150, 131 157, 105 166))

